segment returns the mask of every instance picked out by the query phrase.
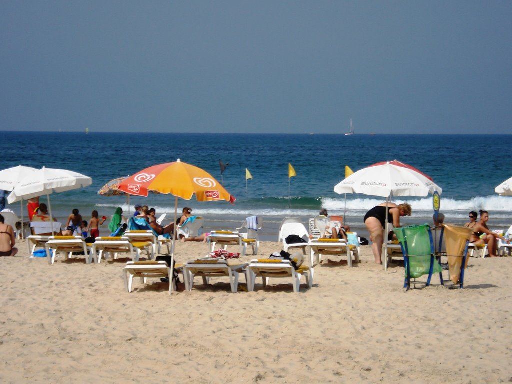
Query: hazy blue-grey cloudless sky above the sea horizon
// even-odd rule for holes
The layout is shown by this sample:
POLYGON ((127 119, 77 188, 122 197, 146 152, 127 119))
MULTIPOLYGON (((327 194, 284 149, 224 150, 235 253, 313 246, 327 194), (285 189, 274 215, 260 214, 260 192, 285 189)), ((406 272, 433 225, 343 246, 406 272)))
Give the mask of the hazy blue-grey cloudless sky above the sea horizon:
POLYGON ((510 133, 510 1, 3 1, 0 131, 510 133))

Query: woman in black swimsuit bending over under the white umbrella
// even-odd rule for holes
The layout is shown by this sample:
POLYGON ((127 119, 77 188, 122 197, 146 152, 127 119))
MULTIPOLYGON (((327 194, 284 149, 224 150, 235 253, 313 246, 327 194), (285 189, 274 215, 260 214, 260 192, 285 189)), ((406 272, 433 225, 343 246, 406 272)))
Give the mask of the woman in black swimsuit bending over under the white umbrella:
MULTIPOLYGON (((412 209, 409 204, 396 205, 388 203, 388 222, 395 228, 400 227, 400 217, 411 216, 412 209)), ((373 242, 372 251, 375 263, 382 264, 382 244, 384 244, 384 226, 386 225, 386 203, 373 207, 365 216, 365 225, 370 232, 373 242)))

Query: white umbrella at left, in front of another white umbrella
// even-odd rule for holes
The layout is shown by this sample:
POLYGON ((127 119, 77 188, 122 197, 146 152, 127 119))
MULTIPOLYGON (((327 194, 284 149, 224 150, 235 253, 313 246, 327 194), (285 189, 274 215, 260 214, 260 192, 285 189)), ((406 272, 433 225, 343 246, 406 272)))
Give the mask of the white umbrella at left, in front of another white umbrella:
POLYGON ((51 194, 87 187, 92 183, 93 180, 90 177, 71 170, 43 167, 20 180, 7 198, 7 201, 9 204, 12 204, 16 201, 29 200, 46 195, 48 197, 50 220, 53 220, 52 206, 50 204, 51 194))

